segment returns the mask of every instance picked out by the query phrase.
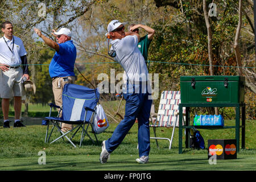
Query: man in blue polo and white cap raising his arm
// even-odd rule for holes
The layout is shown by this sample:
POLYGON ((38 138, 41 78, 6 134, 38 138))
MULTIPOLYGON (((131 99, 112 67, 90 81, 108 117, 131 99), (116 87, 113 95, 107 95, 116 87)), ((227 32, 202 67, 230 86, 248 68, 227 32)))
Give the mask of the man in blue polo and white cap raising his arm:
MULTIPOLYGON (((76 61, 76 47, 71 40, 71 31, 68 28, 60 28, 58 32, 53 30, 52 35, 56 36, 58 43, 42 35, 42 32, 38 28, 34 28, 34 31, 49 47, 56 51, 49 64, 49 75, 52 78, 52 91, 55 104, 61 106, 64 85, 75 82, 74 64, 76 61)), ((72 128, 73 125, 61 124, 61 131, 63 132, 67 132, 72 128)))

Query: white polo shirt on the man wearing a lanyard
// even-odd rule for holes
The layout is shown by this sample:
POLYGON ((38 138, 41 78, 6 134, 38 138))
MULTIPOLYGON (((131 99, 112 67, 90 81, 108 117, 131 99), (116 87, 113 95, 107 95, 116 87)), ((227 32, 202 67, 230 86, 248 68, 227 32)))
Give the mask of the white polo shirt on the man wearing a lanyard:
POLYGON ((0 63, 11 66, 20 65, 22 64, 20 57, 24 55, 27 55, 27 52, 20 38, 16 36, 13 36, 12 40, 7 39, 5 36, 0 38, 0 63))

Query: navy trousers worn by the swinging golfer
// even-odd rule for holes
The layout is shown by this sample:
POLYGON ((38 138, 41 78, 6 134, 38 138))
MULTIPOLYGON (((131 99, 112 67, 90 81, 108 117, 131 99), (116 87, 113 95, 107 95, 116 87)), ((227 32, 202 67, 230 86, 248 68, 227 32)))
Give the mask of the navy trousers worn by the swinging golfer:
POLYGON ((148 93, 123 93, 126 100, 125 118, 115 128, 112 137, 106 140, 106 150, 111 153, 121 144, 128 131, 138 118, 138 144, 139 157, 149 155, 150 129, 149 117, 152 100, 148 99, 148 93))

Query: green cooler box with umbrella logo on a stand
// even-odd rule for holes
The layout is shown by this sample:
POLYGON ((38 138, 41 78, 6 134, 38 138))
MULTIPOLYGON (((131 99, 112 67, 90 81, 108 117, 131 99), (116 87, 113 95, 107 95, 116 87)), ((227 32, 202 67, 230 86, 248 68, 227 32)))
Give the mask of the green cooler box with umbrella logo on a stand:
POLYGON ((181 103, 240 103, 245 101, 243 76, 181 76, 181 103))

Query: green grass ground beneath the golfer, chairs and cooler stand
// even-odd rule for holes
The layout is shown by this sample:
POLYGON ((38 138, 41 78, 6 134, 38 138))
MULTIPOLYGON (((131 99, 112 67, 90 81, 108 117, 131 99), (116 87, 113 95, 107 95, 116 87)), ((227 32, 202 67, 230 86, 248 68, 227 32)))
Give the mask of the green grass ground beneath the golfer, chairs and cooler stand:
MULTIPOLYGON (((232 122, 234 121, 225 121, 225 125, 231 125, 232 122)), ((105 133, 97 135, 99 142, 108 139, 116 126, 117 123, 110 123, 105 133)), ((237 159, 217 160, 216 165, 209 164, 207 150, 185 149, 183 154, 178 154, 178 129, 176 129, 171 150, 168 149, 167 140, 159 140, 159 148, 157 148, 155 140, 152 139, 150 162, 139 165, 135 162, 138 158, 137 123, 117 150, 110 155, 110 160, 106 164, 99 162, 100 144, 92 144, 88 137, 85 137, 82 147, 74 148, 67 140, 62 139, 52 144, 44 143, 46 126, 27 125, 22 128, 11 126, 10 129, 3 129, 1 126, 0 170, 255 170, 255 129, 255 121, 246 121, 246 148, 240 149, 237 159), (39 151, 46 152, 45 165, 38 164, 39 151)), ((158 128, 157 132, 158 137, 170 138, 172 128, 158 128)), ((204 137, 205 146, 208 139, 235 137, 234 129, 200 130, 200 133, 204 137)), ((55 133, 53 136, 58 135, 59 133, 55 133)), ((73 141, 78 145, 79 137, 75 137, 73 141)))

